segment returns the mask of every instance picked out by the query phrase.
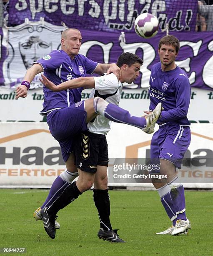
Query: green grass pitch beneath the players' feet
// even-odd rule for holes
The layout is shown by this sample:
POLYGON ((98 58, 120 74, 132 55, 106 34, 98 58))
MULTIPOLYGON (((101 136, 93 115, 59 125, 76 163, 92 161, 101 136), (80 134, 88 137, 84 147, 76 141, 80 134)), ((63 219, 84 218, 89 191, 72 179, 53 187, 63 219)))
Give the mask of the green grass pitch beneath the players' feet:
POLYGON ((185 192, 187 216, 193 228, 187 236, 155 235, 170 226, 157 192, 109 193, 111 223, 113 228, 120 229, 118 234, 126 243, 98 238, 99 219, 92 191, 58 213, 61 228, 52 240, 43 223, 33 219, 33 212, 42 204, 47 190, 0 189, 0 247, 25 247, 24 255, 30 256, 213 255, 213 192, 185 192))

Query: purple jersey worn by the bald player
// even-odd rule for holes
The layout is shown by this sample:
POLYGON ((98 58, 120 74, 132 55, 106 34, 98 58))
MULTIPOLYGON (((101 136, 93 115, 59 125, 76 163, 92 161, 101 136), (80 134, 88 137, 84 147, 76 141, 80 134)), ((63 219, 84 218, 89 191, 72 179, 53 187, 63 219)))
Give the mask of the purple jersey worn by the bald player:
MULTIPOLYGON (((50 54, 44 56, 42 59, 35 61, 41 64, 44 69, 44 75, 54 84, 75 79, 78 77, 85 77, 86 73, 92 74, 98 63, 94 62, 82 54, 78 54, 72 60, 65 51, 53 50, 50 54)), ((47 87, 43 87, 44 103, 41 115, 47 115, 48 112, 66 108, 73 103, 81 100, 81 92, 83 88, 64 90, 61 92, 52 92, 47 87)))

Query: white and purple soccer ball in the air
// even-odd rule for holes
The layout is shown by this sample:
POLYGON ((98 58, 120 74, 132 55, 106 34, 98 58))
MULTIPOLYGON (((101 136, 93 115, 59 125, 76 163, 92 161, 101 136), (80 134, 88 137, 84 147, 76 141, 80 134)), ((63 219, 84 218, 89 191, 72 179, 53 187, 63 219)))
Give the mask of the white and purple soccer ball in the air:
POLYGON ((135 20, 135 32, 138 36, 151 38, 158 33, 158 29, 158 19, 150 13, 140 14, 135 20))

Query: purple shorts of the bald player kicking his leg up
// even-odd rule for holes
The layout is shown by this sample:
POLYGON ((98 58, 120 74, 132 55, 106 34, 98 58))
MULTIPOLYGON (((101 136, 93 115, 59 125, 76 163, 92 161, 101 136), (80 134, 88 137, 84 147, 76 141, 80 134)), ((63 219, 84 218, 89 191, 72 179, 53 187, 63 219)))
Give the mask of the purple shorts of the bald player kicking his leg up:
POLYGON ((59 142, 63 160, 66 162, 74 151, 74 139, 78 133, 87 131, 87 113, 84 100, 49 113, 47 123, 50 133, 59 142))

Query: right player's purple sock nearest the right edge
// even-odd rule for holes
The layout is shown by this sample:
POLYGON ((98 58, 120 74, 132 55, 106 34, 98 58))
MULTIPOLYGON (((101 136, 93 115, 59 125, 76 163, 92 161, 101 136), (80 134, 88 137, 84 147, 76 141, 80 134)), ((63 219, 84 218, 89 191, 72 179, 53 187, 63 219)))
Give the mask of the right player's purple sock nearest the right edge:
POLYGON ((175 212, 177 214, 177 220, 186 220, 185 215, 185 196, 183 185, 170 191, 173 205, 175 206, 175 212))

